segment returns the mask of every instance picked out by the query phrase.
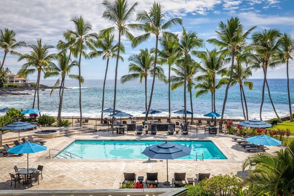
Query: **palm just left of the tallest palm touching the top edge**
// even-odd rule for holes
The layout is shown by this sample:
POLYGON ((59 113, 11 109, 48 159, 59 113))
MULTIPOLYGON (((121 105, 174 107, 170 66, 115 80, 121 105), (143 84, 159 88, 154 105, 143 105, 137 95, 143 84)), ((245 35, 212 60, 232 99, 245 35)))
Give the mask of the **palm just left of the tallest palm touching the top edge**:
MULTIPOLYGON (((105 69, 103 92, 102 92, 102 111, 104 110, 104 92, 105 92, 105 83, 106 83, 109 59, 117 57, 117 53, 118 53, 118 44, 114 44, 114 40, 115 40, 115 35, 110 34, 109 32, 106 32, 103 35, 97 36, 88 45, 88 48, 91 50, 91 52, 88 54, 89 58, 102 56, 103 60, 106 59, 106 69, 105 69)), ((123 45, 120 45, 120 52, 121 53, 125 52, 123 45)), ((123 61, 122 56, 119 56, 119 58, 121 61, 123 61)), ((101 123, 102 122, 103 122, 103 112, 101 113, 101 123)))

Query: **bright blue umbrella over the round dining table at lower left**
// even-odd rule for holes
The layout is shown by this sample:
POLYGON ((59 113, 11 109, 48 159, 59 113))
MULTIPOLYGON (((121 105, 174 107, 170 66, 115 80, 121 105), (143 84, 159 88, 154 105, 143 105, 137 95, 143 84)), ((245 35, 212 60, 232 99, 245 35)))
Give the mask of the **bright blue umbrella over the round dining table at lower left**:
POLYGON ((46 146, 42 146, 36 143, 25 142, 20 145, 9 148, 7 152, 14 154, 28 154, 28 173, 29 173, 29 153, 36 153, 43 150, 47 150, 46 146))

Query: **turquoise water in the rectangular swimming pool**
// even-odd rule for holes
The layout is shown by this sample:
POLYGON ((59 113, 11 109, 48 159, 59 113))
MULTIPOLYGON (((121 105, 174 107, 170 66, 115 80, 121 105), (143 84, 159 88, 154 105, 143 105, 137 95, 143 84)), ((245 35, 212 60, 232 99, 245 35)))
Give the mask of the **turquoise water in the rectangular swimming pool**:
MULTIPOLYGON (((164 141, 154 140, 76 140, 69 144, 56 158, 69 158, 69 152, 74 158, 83 159, 147 159, 141 154, 143 150, 153 144, 164 141)), ((212 141, 171 141, 192 148, 191 154, 179 159, 227 159, 212 141)))

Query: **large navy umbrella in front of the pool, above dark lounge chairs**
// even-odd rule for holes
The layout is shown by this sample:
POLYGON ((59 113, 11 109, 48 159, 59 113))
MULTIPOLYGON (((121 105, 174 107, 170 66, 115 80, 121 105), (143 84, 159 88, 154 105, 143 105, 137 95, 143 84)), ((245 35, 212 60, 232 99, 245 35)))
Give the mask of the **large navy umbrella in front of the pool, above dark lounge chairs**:
POLYGON ((167 170, 167 181, 164 182, 164 185, 170 185, 169 174, 168 174, 168 160, 177 159, 180 157, 185 157, 190 155, 191 148, 184 145, 173 143, 173 142, 164 142, 159 144, 154 144, 147 146, 142 154, 150 157, 151 159, 166 159, 166 170, 167 170))

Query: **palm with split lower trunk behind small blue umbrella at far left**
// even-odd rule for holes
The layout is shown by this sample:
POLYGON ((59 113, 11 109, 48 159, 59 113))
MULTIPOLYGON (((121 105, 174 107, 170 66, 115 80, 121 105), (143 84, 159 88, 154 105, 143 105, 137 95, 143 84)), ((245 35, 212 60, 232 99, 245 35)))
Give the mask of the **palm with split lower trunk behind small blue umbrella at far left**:
POLYGON ((42 44, 41 38, 37 39, 37 43, 29 44, 28 48, 31 49, 31 52, 29 54, 21 55, 18 58, 18 61, 21 61, 23 59, 27 60, 27 62, 22 65, 20 73, 23 73, 24 75, 29 75, 36 71, 38 72, 32 108, 35 107, 35 98, 37 93, 37 107, 38 110, 40 110, 39 85, 41 72, 44 73, 50 65, 54 64, 52 60, 56 57, 56 55, 49 54, 49 50, 53 49, 54 46, 48 43, 42 44))

